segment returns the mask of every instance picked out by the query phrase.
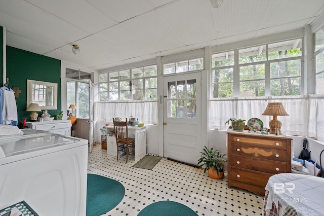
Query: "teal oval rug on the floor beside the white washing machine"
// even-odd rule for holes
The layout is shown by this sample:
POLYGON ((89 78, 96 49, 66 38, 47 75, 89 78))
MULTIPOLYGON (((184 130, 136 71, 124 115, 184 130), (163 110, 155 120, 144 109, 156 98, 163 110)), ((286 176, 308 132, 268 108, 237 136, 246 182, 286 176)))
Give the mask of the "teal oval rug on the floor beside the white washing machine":
POLYGON ((88 174, 87 216, 107 213, 124 198, 124 186, 101 175, 88 174))

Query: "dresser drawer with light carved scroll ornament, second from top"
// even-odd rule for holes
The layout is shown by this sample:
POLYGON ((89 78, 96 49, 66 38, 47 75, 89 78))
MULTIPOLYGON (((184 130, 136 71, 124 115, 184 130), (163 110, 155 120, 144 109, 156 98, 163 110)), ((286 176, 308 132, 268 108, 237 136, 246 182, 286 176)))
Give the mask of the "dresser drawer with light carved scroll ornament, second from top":
POLYGON ((281 149, 262 148, 262 146, 257 145, 241 145, 238 143, 232 143, 230 154, 251 157, 252 159, 258 158, 287 162, 287 151, 281 149))

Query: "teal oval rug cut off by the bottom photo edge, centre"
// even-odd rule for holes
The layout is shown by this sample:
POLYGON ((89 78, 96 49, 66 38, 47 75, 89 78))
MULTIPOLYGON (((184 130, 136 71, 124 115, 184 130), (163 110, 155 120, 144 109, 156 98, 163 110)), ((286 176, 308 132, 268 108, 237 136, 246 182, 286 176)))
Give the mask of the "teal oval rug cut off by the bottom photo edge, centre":
POLYGON ((159 201, 146 206, 137 216, 196 216, 191 208, 173 201, 159 201))

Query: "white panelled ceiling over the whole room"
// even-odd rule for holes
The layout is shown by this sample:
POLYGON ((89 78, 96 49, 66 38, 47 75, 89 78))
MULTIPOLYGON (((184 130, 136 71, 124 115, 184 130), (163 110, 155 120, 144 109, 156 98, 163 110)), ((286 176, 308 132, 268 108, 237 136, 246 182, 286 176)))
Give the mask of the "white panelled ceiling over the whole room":
POLYGON ((311 24, 323 0, 1 0, 7 45, 103 69, 311 24), (72 44, 80 53, 72 53, 72 44))

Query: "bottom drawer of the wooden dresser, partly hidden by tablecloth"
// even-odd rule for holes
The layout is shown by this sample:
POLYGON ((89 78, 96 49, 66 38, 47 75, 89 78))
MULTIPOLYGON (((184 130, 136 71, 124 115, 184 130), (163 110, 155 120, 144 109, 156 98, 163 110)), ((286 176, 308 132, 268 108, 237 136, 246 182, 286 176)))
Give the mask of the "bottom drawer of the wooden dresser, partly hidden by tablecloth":
POLYGON ((258 171, 231 168, 230 178, 231 181, 245 183, 256 187, 265 188, 268 179, 272 174, 267 174, 258 171))

